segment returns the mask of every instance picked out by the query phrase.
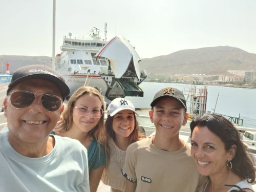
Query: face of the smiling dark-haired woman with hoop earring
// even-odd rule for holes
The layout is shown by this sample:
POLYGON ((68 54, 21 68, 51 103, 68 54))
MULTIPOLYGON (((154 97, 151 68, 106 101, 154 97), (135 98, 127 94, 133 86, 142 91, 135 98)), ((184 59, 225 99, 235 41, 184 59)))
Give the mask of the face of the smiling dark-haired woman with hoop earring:
POLYGON ((196 126, 191 135, 191 155, 201 175, 214 176, 228 171, 227 160, 233 150, 226 151, 224 142, 207 126, 196 126))

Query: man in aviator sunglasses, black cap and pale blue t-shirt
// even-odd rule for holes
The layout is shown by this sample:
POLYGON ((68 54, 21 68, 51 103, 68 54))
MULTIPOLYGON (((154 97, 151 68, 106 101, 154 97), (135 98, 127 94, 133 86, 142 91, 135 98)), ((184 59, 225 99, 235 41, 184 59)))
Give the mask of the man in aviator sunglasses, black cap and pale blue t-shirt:
POLYGON ((0 132, 1 191, 90 191, 86 148, 49 135, 69 93, 47 66, 14 72, 4 99, 8 131, 0 132))

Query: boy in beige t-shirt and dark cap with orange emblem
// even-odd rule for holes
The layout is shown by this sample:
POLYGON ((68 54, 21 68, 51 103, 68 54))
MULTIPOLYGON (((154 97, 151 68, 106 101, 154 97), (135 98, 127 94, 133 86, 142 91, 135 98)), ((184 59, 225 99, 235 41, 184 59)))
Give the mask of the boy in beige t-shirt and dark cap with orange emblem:
POLYGON ((205 180, 190 155, 190 146, 179 138, 188 119, 181 91, 164 88, 155 94, 149 112, 155 136, 131 144, 122 169, 125 191, 200 191, 205 180))

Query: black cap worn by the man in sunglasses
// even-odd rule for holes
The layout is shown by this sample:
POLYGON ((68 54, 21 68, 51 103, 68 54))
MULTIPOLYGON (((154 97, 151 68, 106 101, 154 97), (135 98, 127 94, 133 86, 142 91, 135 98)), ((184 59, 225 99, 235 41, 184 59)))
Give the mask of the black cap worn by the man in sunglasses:
POLYGON ((53 82, 58 87, 63 100, 70 93, 70 89, 65 83, 65 80, 52 68, 45 65, 30 65, 18 68, 13 73, 11 83, 8 86, 7 95, 18 83, 32 78, 46 79, 53 82))

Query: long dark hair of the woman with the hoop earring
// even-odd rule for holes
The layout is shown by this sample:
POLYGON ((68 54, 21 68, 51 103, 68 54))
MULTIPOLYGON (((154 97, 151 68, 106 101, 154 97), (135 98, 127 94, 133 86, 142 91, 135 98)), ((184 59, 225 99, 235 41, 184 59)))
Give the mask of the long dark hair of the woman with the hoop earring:
POLYGON ((196 126, 207 126, 210 132, 217 135, 224 142, 226 151, 230 150, 232 145, 236 145, 237 152, 231 160, 231 170, 241 179, 247 179, 249 183, 254 182, 254 159, 249 153, 248 147, 241 141, 237 129, 229 120, 220 115, 205 114, 203 116, 196 117, 190 123, 191 135, 196 126))

